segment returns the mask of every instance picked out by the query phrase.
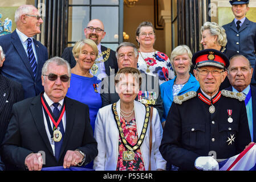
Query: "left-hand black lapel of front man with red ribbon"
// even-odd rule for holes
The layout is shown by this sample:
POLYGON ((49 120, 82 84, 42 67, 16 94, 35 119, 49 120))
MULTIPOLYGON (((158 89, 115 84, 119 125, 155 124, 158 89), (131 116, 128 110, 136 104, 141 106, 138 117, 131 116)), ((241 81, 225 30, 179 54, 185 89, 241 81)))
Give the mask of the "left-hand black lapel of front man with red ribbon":
POLYGON ((43 109, 42 109, 42 102, 41 102, 41 94, 36 96, 34 100, 31 102, 30 106, 30 111, 32 114, 32 117, 34 118, 35 125, 38 129, 38 133, 42 137, 44 143, 46 144, 48 150, 51 152, 52 155, 54 155, 52 148, 51 148, 51 143, 48 140, 48 136, 46 133, 46 128, 44 126, 44 121, 43 121, 43 109))

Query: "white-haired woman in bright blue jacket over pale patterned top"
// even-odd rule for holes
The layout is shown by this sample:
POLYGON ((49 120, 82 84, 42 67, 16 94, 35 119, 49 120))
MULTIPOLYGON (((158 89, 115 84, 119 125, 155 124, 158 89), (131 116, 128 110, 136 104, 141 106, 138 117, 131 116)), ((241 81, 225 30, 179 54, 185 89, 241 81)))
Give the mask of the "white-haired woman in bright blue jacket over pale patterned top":
POLYGON ((196 78, 189 73, 192 56, 189 47, 185 45, 174 48, 170 55, 170 63, 176 72, 176 76, 160 85, 164 105, 164 114, 161 120, 163 126, 172 105, 173 97, 189 91, 197 91, 200 86, 196 78))

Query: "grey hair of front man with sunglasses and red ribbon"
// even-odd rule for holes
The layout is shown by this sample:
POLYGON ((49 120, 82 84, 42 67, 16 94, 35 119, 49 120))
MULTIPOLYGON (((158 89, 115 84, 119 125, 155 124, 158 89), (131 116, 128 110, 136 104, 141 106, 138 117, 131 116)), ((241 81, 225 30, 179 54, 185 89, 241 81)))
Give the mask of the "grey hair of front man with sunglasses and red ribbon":
POLYGON ((68 77, 71 77, 71 68, 70 68, 70 64, 68 63, 68 61, 62 59, 61 57, 55 56, 52 57, 51 59, 47 60, 42 68, 42 76, 45 75, 48 71, 48 65, 50 63, 56 63, 57 65, 66 65, 67 66, 67 70, 68 70, 68 77))

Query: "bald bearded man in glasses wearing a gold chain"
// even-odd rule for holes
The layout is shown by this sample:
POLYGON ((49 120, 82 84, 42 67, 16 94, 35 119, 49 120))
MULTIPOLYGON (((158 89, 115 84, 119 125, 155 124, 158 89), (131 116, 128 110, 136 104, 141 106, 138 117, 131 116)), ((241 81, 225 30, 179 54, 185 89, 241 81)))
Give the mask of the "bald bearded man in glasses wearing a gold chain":
MULTIPOLYGON (((100 44, 101 40, 104 39, 105 34, 104 24, 99 19, 92 19, 87 24, 87 27, 84 28, 84 35, 86 38, 94 40, 99 50, 99 56, 90 70, 90 73, 99 78, 99 80, 117 73, 118 71, 115 51, 100 44)), ((62 58, 70 63, 71 68, 75 67, 76 64, 72 49, 73 47, 67 47, 62 54, 62 58)))

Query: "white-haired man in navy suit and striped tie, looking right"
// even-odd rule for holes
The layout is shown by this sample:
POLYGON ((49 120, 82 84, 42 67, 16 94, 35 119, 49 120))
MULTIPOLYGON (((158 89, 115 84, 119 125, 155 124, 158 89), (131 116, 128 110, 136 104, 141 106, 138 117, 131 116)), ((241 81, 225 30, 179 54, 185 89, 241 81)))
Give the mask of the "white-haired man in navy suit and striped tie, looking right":
POLYGON ((43 90, 41 71, 48 59, 47 48, 32 38, 40 34, 43 20, 35 6, 22 5, 15 11, 15 23, 13 33, 0 37, 6 54, 1 73, 22 84, 25 98, 34 97, 43 90))

